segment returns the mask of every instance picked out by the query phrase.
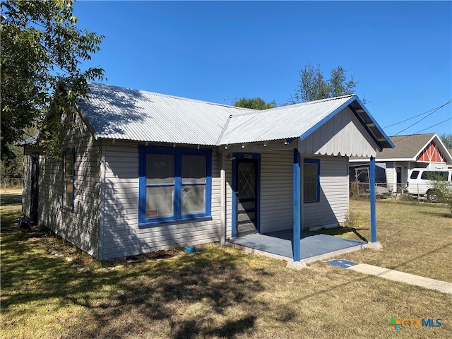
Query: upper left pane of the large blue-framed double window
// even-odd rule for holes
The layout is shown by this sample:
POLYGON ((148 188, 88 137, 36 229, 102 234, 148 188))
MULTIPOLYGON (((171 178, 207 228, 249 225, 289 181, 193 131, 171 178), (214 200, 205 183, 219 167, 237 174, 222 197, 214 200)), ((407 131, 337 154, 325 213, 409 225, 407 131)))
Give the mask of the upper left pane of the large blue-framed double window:
POLYGON ((174 155, 146 155, 146 184, 174 183, 174 155))

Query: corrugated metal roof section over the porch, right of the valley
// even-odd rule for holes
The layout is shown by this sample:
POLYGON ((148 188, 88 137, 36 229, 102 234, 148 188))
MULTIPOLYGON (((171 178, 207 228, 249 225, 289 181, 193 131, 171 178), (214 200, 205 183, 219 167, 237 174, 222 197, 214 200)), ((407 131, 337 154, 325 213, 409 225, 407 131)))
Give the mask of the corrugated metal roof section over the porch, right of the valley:
POLYGON ((298 138, 333 114, 354 95, 276 107, 232 116, 220 143, 252 143, 298 138))

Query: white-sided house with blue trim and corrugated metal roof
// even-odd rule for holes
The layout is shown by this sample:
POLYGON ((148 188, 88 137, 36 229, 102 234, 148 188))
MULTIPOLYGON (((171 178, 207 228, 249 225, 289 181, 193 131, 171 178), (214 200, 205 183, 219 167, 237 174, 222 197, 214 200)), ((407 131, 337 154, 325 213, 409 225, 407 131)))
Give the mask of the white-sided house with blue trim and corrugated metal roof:
POLYGON ((24 145, 23 213, 101 260, 337 226, 348 158, 392 147, 356 95, 255 111, 90 88, 61 160, 24 145))

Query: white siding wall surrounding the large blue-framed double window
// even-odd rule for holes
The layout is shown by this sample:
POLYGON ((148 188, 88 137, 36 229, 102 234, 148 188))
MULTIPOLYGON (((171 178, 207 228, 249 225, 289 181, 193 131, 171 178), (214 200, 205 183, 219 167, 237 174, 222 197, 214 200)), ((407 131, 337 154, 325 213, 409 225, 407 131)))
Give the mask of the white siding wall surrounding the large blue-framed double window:
MULTIPOLYGON (((149 227, 138 227, 138 145, 109 143, 105 145, 104 155, 102 259, 142 254, 174 244, 196 245, 220 240, 220 171, 215 150, 212 153, 212 220, 149 227)), ((228 201, 230 210, 230 199, 228 201)))

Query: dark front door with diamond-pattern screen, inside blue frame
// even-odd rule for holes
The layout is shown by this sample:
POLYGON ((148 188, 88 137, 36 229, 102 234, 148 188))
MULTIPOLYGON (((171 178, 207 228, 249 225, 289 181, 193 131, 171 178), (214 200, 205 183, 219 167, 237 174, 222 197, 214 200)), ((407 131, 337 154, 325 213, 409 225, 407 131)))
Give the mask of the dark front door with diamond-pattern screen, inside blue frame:
POLYGON ((236 215, 237 237, 258 230, 258 160, 237 159, 236 215))

